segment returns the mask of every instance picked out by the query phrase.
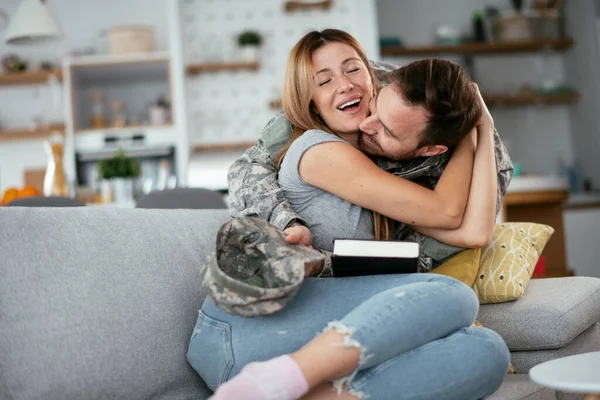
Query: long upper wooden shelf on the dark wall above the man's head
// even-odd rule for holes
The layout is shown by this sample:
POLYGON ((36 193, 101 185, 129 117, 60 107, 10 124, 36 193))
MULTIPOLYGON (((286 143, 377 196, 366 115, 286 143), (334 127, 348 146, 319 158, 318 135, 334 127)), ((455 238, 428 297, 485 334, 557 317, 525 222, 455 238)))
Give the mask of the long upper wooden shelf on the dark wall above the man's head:
POLYGON ((417 56, 431 54, 500 54, 524 53, 541 50, 566 50, 573 46, 573 39, 548 39, 531 41, 506 41, 494 43, 464 43, 459 45, 439 45, 404 47, 382 46, 384 56, 417 56))

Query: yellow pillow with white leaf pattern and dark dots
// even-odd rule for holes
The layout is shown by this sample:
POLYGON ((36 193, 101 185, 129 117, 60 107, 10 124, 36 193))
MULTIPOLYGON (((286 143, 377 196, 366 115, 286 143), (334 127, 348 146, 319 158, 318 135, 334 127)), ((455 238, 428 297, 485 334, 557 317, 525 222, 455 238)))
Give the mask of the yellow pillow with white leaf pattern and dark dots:
POLYGON ((553 233, 552 227, 531 222, 496 224, 492 243, 481 254, 473 284, 479 303, 502 303, 521 297, 553 233))

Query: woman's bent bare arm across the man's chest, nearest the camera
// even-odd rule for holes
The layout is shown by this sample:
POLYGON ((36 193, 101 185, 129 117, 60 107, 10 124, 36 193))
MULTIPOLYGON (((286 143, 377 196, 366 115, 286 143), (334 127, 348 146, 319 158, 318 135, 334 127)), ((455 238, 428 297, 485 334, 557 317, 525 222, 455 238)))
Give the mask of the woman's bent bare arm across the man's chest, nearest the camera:
POLYGON ((307 150, 298 166, 311 185, 364 208, 410 225, 454 229, 467 204, 475 144, 465 138, 456 147, 435 190, 381 170, 346 143, 328 142, 307 150))

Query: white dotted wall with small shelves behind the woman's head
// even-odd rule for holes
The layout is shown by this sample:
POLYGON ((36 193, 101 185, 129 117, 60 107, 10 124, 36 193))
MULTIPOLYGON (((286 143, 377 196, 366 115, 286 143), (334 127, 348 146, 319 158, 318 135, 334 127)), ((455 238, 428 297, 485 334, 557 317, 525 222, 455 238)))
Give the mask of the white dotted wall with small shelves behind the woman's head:
MULTIPOLYGON (((186 77, 190 142, 254 140, 276 111, 289 51, 309 30, 339 28, 367 54, 379 56, 373 0, 335 0, 329 11, 285 13, 282 0, 180 0, 185 63, 239 59, 235 37, 244 29, 264 36, 257 72, 213 72, 186 77)), ((190 185, 226 188, 227 168, 240 152, 200 153, 189 164, 190 185)))

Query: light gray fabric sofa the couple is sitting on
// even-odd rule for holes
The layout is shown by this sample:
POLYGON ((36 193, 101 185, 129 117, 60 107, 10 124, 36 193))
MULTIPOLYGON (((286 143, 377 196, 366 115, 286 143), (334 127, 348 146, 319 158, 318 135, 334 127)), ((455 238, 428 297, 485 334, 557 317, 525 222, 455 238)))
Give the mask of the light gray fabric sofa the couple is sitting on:
MULTIPOLYGON (((205 399, 185 360, 225 210, 0 208, 0 399, 205 399)), ((535 364, 600 350, 600 279, 534 280, 479 320, 519 375, 492 399, 566 399, 535 364)), ((206 362, 211 362, 207 359, 206 362)), ((573 397, 576 398, 576 397, 573 397)))

